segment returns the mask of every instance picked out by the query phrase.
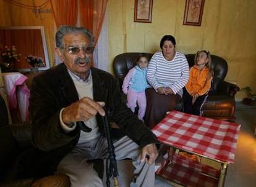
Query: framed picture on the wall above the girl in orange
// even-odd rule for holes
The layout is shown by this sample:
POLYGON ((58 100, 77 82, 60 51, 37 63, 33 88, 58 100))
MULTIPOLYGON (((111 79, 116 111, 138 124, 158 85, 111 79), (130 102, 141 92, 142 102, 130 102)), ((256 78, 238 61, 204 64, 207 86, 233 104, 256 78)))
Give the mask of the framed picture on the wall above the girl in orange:
POLYGON ((183 25, 201 26, 205 0, 186 0, 183 25))

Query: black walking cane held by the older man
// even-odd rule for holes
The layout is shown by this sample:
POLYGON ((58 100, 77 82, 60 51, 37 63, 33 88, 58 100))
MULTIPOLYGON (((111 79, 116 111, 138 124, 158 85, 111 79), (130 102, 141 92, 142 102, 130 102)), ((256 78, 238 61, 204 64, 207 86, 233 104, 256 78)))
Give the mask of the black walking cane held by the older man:
POLYGON ((105 116, 103 116, 104 121, 104 129, 106 138, 108 141, 108 159, 106 160, 106 185, 110 187, 109 178, 113 177, 114 187, 118 187, 118 172, 117 172, 117 164, 116 164, 116 155, 114 154, 114 146, 113 141, 111 140, 110 130, 109 130, 109 121, 108 121, 108 111, 105 109, 105 116))

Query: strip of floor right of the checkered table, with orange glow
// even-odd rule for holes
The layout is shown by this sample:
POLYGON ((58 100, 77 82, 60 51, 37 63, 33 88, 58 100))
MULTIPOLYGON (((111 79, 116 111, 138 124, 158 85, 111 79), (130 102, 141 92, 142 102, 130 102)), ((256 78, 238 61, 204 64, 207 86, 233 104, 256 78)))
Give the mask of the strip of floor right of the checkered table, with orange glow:
POLYGON ((241 124, 234 164, 229 165, 226 187, 256 186, 256 108, 236 109, 236 122, 241 124))

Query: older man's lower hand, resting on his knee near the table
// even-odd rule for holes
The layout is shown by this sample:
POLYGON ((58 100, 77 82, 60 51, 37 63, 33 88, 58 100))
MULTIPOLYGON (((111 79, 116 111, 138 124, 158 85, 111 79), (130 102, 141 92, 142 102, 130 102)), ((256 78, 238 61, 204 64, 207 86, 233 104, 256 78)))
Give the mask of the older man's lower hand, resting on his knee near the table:
POLYGON ((158 157, 158 151, 155 143, 151 143, 142 148, 142 154, 140 160, 147 162, 148 164, 155 164, 155 160, 158 157))

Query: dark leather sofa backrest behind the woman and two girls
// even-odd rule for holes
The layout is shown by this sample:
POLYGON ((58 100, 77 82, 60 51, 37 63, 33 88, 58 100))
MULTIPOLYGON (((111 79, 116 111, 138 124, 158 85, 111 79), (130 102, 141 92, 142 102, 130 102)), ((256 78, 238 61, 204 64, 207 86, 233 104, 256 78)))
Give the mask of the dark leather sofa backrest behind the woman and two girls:
MULTIPOLYGON (((119 80, 120 86, 122 86, 122 82, 124 81, 124 78, 128 71, 135 66, 135 60, 140 54, 147 55, 149 60, 153 55, 151 53, 129 52, 119 54, 114 57, 114 76, 116 76, 116 78, 119 80)), ((193 66, 195 54, 187 54, 186 58, 189 62, 189 66, 193 66)), ((213 68, 214 72, 212 90, 216 90, 218 84, 226 77, 226 74, 228 72, 228 63, 226 62, 226 60, 224 60, 224 58, 218 57, 217 55, 211 55, 211 68, 213 68)))

